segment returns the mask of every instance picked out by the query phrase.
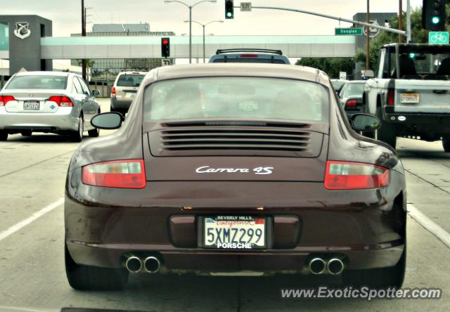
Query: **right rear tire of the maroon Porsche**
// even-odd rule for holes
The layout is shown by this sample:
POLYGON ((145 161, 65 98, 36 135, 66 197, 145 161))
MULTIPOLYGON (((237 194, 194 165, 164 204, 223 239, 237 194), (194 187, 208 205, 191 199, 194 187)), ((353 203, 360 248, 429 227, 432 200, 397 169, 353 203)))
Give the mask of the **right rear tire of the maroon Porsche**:
POLYGON ((370 268, 366 270, 347 270, 342 273, 345 285, 353 287, 387 288, 403 285, 406 269, 406 240, 399 262, 389 268, 370 268))

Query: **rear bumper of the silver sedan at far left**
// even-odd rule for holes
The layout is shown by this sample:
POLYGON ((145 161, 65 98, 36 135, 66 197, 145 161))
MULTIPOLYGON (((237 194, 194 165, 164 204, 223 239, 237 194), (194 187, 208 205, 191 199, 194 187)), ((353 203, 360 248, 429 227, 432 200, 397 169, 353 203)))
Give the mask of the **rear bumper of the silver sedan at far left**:
POLYGON ((60 108, 55 113, 6 112, 0 107, 0 129, 7 131, 76 131, 79 119, 72 113, 72 108, 60 108))

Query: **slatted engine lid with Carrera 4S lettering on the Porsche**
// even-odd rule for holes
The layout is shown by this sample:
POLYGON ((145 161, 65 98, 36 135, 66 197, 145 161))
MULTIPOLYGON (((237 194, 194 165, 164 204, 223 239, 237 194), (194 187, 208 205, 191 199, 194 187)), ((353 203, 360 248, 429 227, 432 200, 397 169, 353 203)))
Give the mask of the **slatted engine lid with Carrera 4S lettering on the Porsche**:
POLYGON ((328 124, 145 123, 148 181, 323 181, 328 124))

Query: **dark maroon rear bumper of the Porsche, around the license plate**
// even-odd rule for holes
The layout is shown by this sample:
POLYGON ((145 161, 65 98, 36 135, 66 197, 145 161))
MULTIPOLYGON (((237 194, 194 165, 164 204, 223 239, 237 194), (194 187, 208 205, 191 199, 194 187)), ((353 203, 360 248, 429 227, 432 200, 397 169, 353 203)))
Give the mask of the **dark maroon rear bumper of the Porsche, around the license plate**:
POLYGON ((405 240, 406 198, 394 206, 402 193, 400 176, 392 174, 390 188, 334 193, 328 199, 322 183, 265 182, 259 190, 245 182, 152 182, 143 190, 68 183, 65 240, 75 262, 113 268, 124 266, 129 253, 158 256, 173 272, 300 272, 316 255, 340 256, 350 269, 394 266, 405 240), (216 190, 214 198, 201 198, 209 188, 216 190), (212 214, 268 217, 268 248, 204 249, 199 220, 212 214), (191 221, 174 226, 173 216, 191 221), (300 222, 281 226, 283 217, 300 222), (296 230, 297 240, 287 244, 296 230))

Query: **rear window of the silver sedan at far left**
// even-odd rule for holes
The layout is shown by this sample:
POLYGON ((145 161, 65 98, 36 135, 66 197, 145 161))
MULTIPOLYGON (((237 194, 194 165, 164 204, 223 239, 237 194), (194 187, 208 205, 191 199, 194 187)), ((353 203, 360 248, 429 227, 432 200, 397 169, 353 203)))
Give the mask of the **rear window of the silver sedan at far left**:
POLYGON ((24 75, 15 76, 6 89, 57 89, 65 90, 68 85, 66 76, 24 75))

